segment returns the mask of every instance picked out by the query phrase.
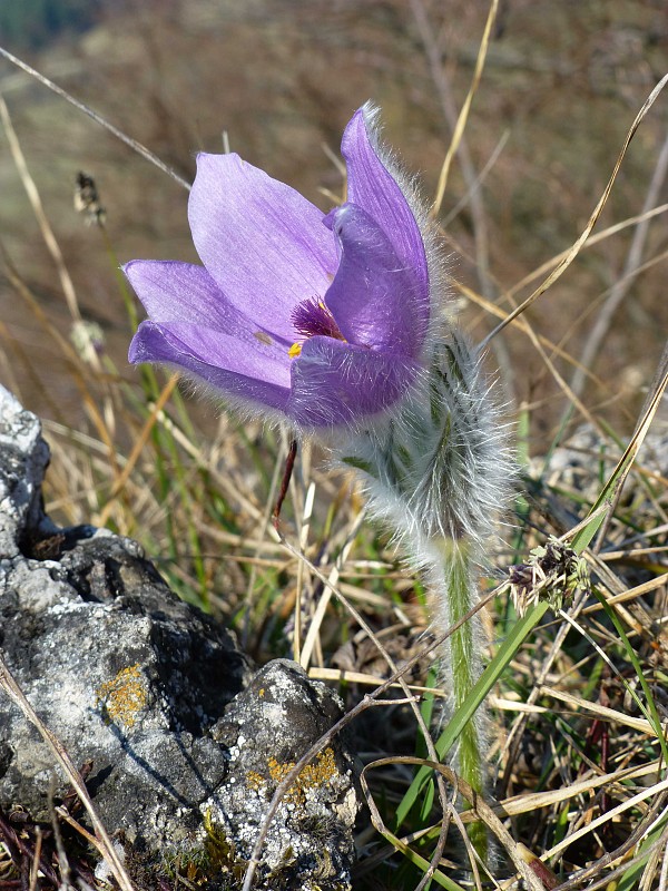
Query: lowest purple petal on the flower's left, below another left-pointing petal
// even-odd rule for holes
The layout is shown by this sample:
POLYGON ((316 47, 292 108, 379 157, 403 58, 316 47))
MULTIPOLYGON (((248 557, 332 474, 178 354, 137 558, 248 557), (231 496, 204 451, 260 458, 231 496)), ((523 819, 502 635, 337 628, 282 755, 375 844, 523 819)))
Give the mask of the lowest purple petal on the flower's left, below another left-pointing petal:
MULTIPOLYGON (((289 395, 288 388, 282 386, 272 380, 265 380, 268 376, 264 373, 266 372, 266 366, 262 362, 258 363, 257 358, 255 358, 257 363, 255 371, 263 372, 263 376, 256 376, 253 360, 248 360, 247 356, 245 369, 249 373, 244 373, 244 366, 240 361, 242 355, 238 352, 242 344, 237 343, 233 337, 226 339, 229 341, 228 345, 232 351, 235 350, 236 344, 237 352, 230 351, 227 354, 227 364, 233 368, 222 368, 210 364, 210 361, 205 361, 194 353, 186 341, 193 336, 194 332, 199 332, 200 330, 195 326, 190 326, 189 330, 186 330, 186 327, 178 326, 175 332, 171 327, 159 325, 155 322, 143 322, 130 343, 128 359, 135 364, 139 362, 160 362, 174 365, 188 374, 194 374, 210 386, 222 390, 225 395, 229 395, 233 399, 285 411, 289 395), (180 340, 181 336, 184 340, 180 340)), ((216 336, 220 335, 216 333, 216 336)), ((204 339, 202 342, 203 352, 210 345, 206 341, 207 339, 204 339)), ((223 350, 218 349, 222 353, 223 350)), ((216 359, 215 361, 219 360, 216 359)))

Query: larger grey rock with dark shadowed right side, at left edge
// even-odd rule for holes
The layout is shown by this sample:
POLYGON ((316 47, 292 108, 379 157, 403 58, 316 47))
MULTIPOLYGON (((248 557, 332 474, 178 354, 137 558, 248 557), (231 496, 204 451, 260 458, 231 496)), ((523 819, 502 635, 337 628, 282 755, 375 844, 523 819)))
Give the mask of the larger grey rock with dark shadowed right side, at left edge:
MULTIPOLYGON (((112 536, 80 541, 58 562, 3 570, 10 670, 75 763, 92 760, 105 822, 155 849, 187 841, 198 803, 225 774, 205 732, 242 688, 232 638, 112 536)), ((0 728, 12 753, 0 797, 41 815, 53 756, 7 701, 0 728)))

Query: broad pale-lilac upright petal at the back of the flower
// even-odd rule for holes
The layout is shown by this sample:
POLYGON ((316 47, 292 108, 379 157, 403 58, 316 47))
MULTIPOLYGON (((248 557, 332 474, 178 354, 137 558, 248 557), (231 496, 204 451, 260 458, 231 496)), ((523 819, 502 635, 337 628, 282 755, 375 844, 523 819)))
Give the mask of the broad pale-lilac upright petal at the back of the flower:
POLYGON ((195 247, 230 304, 286 340, 289 314, 336 272, 323 214, 238 155, 197 158, 188 218, 195 247))

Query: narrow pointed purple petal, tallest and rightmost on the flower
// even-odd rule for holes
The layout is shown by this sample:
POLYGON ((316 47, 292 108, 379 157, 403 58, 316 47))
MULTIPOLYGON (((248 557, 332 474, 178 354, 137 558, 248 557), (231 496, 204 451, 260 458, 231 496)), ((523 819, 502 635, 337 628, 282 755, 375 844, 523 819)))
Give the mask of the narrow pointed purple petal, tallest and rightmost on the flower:
POLYGON ((347 198, 366 210, 387 234, 397 257, 415 271, 426 295, 429 272, 420 226, 396 179, 381 160, 370 127, 371 112, 365 107, 353 115, 343 134, 341 151, 347 168, 347 198))

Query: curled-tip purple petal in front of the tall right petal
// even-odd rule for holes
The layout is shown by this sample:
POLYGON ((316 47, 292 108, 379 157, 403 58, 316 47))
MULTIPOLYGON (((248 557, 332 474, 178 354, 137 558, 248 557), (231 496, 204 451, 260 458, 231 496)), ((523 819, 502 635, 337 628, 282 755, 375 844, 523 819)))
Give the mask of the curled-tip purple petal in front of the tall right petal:
POLYGON ((325 303, 350 343, 418 358, 429 305, 412 267, 399 260, 377 223, 344 204, 325 217, 341 245, 341 263, 325 303))

